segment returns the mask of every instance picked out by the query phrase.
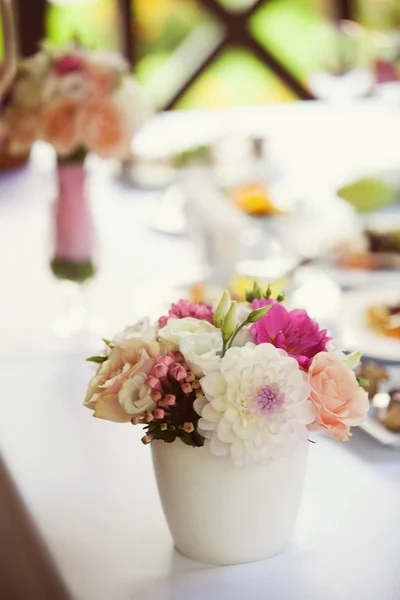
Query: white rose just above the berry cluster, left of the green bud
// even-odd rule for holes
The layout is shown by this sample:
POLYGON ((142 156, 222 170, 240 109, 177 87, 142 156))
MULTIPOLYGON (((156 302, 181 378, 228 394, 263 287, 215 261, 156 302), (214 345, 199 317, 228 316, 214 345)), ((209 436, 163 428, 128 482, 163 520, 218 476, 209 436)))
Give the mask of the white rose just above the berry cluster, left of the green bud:
POLYGON ((180 342, 180 350, 196 377, 214 373, 219 369, 222 351, 220 331, 195 333, 180 342))

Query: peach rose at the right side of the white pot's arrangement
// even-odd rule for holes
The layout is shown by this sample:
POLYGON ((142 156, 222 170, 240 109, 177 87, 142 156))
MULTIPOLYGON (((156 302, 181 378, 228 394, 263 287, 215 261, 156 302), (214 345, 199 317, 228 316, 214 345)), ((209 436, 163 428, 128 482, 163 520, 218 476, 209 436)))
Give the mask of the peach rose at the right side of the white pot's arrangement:
POLYGON ((323 431, 338 440, 348 440, 350 427, 360 425, 368 408, 368 395, 343 362, 329 354, 317 354, 308 372, 310 399, 316 418, 308 428, 323 431))

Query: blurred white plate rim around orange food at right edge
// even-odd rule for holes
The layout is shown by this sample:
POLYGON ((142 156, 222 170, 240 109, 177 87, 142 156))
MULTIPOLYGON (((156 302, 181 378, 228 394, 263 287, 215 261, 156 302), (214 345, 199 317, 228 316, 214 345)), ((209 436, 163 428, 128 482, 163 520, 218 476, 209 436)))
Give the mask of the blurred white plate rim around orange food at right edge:
MULTIPOLYGON (((393 277, 393 276, 392 276, 393 277)), ((367 325, 366 312, 372 304, 395 304, 400 301, 400 277, 398 284, 390 287, 368 287, 343 294, 340 324, 342 340, 348 350, 361 350, 366 356, 381 360, 400 362, 400 340, 377 335, 367 325)))

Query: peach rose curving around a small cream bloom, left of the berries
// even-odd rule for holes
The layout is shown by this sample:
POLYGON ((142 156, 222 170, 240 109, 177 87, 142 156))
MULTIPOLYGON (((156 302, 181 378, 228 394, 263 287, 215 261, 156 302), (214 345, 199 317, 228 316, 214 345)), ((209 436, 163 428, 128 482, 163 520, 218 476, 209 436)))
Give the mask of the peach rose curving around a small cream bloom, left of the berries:
POLYGON ((124 402, 121 404, 118 395, 128 380, 134 381, 135 376, 144 380, 150 375, 159 352, 157 342, 145 343, 138 339, 115 346, 89 383, 84 406, 93 410, 99 419, 117 423, 131 421, 133 413, 124 410, 124 402))

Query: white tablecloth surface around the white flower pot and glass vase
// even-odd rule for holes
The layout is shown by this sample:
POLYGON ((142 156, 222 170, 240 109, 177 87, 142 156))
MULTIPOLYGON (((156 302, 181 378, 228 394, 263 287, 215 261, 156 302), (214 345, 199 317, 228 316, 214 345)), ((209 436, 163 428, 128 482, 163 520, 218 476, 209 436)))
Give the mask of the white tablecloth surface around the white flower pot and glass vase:
MULTIPOLYGON (((258 118, 267 128, 274 115, 277 130, 276 119, 283 128, 287 119, 292 127, 300 120, 300 129, 311 132, 305 144, 311 152, 315 119, 328 130, 339 119, 338 110, 345 109, 316 105, 314 113, 309 106, 284 109, 286 114, 276 110, 281 116, 257 109, 258 118)), ((372 122, 376 161, 387 152, 389 138, 392 151, 397 149, 397 119, 388 129, 388 113, 375 105, 353 113, 357 125, 348 121, 355 128, 353 134, 351 126, 346 129, 349 145, 355 145, 362 123, 364 136, 370 137, 367 125, 372 122), (385 122, 386 135, 375 116, 385 122)), ((226 113, 220 114, 229 121, 226 113)), ((254 118, 253 112, 248 114, 254 118)), ((185 129, 185 119, 193 122, 193 115, 158 118, 149 139, 163 127, 171 130, 173 118, 184 137, 181 125, 185 129)), ((209 118, 220 121, 213 114, 209 118)), ((208 122, 204 113, 201 119, 208 122)), ((321 140, 320 131, 314 133, 321 140)), ((296 132, 290 135, 296 137, 296 132)), ((341 155, 334 137, 332 133, 324 140, 321 155, 341 155)), ((393 152, 390 157, 395 162, 393 152)), ((370 147, 364 158, 364 166, 375 164, 370 147)), ((284 554, 217 568, 193 563, 173 550, 140 431, 95 420, 81 406, 90 376, 83 359, 96 347, 91 340, 55 344, 49 334, 58 289, 47 266, 52 188, 46 165, 34 161, 30 169, 0 179, 0 442, 74 598, 398 600, 400 455, 362 432, 346 444, 323 439, 311 447, 294 541, 284 554)), ((98 167, 93 189, 101 242, 95 306, 105 314, 107 334, 111 325, 144 310, 139 291, 146 278, 150 285, 150 274, 149 303, 154 303, 157 274, 171 264, 190 267, 194 258, 186 240, 146 228, 156 202, 152 194, 121 189, 98 167)))

